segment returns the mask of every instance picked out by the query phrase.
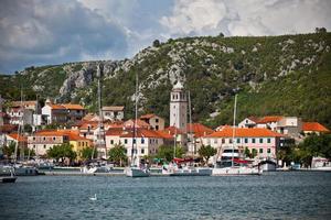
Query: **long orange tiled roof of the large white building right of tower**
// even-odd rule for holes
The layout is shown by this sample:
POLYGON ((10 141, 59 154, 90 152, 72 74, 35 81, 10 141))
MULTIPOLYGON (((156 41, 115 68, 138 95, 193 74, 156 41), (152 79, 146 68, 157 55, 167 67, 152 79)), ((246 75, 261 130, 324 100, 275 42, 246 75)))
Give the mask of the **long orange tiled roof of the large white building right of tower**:
MULTIPOLYGON (((216 131, 206 138, 232 138, 233 135, 233 129, 231 127, 225 127, 220 131, 216 131)), ((235 129, 235 136, 236 138, 264 138, 264 136, 284 136, 279 133, 273 132, 268 129, 243 129, 243 128, 236 128, 235 129)))

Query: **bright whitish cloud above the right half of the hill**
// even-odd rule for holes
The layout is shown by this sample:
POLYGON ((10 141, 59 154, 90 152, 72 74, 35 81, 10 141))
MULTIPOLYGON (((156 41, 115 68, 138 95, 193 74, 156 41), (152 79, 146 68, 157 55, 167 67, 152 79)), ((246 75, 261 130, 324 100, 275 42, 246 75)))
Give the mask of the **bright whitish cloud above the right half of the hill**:
POLYGON ((160 23, 173 36, 274 35, 331 29, 328 0, 179 0, 160 23))

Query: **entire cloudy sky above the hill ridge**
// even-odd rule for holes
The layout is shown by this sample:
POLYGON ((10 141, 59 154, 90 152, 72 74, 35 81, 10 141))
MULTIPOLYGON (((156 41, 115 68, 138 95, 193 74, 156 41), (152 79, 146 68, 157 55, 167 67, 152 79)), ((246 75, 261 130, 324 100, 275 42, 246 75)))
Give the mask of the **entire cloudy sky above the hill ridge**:
POLYGON ((330 0, 0 0, 0 73, 131 58, 154 40, 331 30, 330 0))

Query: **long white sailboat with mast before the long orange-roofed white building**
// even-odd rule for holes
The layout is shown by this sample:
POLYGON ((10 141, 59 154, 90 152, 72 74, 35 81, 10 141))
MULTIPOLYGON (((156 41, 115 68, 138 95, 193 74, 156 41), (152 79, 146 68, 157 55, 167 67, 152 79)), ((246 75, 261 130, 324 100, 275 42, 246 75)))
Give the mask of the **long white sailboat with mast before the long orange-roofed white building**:
MULTIPOLYGON (((232 148, 223 151, 221 163, 222 167, 217 167, 217 162, 212 169, 212 176, 228 176, 228 175, 260 175, 261 169, 258 167, 247 166, 247 161, 242 160, 239 156, 239 151, 235 146, 235 133, 236 133, 236 108, 237 108, 237 95, 235 95, 234 112, 233 112, 233 131, 232 131, 232 148), (228 166, 228 158, 231 160, 231 165, 228 166)), ((221 151, 220 151, 221 152, 221 151)))

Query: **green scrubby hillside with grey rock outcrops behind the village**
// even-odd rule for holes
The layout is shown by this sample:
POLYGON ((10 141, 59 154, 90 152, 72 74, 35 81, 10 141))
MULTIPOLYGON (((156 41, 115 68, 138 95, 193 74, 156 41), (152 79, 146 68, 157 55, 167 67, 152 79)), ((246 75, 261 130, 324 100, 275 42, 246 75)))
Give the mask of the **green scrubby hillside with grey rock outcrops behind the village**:
MULTIPOLYGON (((261 37, 186 37, 154 44, 132 59, 102 61, 104 105, 125 105, 134 113, 135 74, 139 112, 169 116, 169 92, 181 80, 191 92, 193 121, 231 123, 233 96, 238 117, 285 114, 331 127, 331 33, 261 37)), ((96 103, 96 62, 29 67, 1 76, 4 98, 52 97, 96 103)))

